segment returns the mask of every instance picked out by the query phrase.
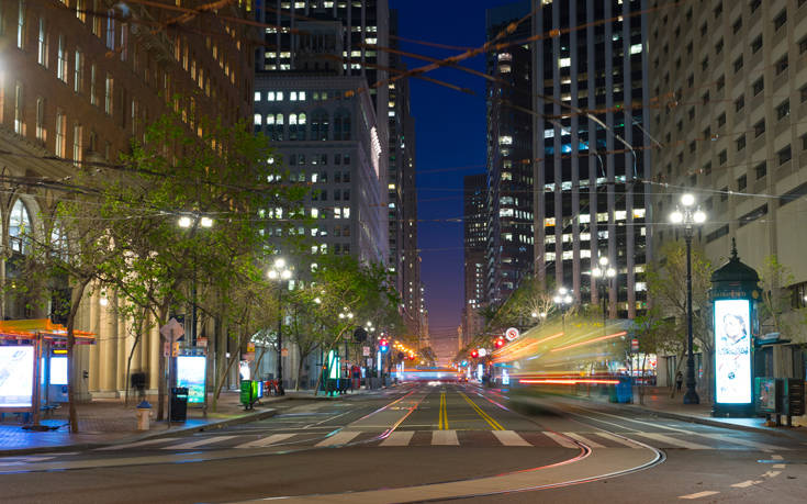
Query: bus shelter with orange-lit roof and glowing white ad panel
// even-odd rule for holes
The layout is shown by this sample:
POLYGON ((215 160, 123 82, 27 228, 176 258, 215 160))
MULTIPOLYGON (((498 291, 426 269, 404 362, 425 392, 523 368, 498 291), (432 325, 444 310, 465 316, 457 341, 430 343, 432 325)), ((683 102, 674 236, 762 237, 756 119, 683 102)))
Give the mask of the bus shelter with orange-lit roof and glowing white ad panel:
MULTIPOLYGON (((74 331, 77 345, 96 336, 74 331)), ((51 404, 67 402, 67 328, 47 318, 0 322, 0 413, 27 413, 33 425, 51 404)))

